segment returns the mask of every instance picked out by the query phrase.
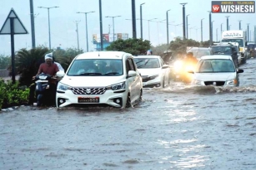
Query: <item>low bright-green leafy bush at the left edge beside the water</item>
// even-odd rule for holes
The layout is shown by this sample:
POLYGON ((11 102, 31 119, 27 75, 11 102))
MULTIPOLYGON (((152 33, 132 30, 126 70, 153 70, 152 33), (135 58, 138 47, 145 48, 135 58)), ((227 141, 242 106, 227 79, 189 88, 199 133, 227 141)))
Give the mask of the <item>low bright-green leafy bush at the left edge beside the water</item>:
POLYGON ((12 80, 5 82, 0 79, 0 109, 18 104, 28 104, 29 89, 20 88, 19 83, 12 83, 12 80))

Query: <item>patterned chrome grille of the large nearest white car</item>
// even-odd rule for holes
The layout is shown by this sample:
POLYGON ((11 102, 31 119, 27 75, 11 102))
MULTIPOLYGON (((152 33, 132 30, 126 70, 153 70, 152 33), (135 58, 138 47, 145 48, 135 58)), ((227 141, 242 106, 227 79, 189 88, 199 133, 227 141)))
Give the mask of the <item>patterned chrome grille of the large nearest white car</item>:
POLYGON ((74 95, 103 95, 107 90, 105 87, 102 88, 72 88, 74 95))

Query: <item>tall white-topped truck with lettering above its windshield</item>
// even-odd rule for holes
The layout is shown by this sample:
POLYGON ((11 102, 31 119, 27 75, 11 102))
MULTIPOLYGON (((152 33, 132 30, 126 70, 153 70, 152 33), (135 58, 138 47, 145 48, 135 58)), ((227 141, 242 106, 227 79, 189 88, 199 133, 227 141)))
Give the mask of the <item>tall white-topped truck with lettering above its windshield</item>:
POLYGON ((222 42, 238 42, 239 51, 241 55, 241 62, 246 63, 248 52, 246 51, 247 47, 247 35, 243 30, 228 30, 222 32, 222 42))

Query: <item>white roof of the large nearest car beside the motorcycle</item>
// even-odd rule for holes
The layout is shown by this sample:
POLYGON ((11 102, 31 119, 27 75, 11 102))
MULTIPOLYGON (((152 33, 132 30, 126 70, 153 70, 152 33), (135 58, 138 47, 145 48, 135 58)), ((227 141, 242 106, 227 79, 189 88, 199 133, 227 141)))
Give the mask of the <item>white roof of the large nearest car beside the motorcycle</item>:
POLYGON ((76 59, 123 59, 123 56, 132 56, 123 51, 91 51, 79 54, 76 59))

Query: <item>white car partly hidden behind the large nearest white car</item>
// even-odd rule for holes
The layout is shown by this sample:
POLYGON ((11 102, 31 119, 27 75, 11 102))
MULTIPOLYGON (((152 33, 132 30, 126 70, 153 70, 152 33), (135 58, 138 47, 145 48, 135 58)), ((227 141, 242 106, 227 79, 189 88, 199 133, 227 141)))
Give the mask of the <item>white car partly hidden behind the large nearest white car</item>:
POLYGON ((134 61, 143 77, 143 87, 165 87, 169 81, 168 65, 161 56, 134 56, 134 61))

